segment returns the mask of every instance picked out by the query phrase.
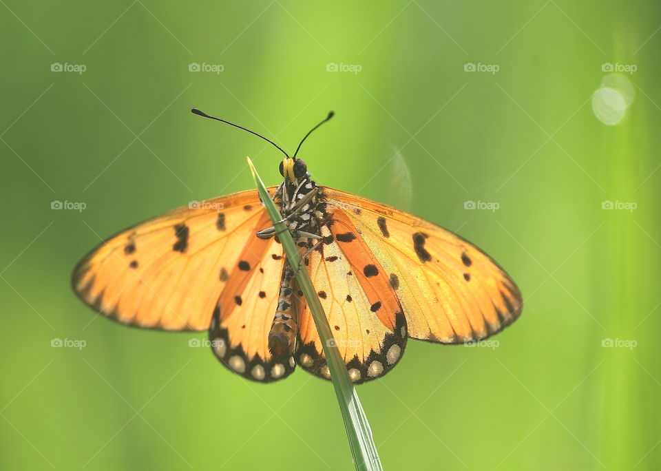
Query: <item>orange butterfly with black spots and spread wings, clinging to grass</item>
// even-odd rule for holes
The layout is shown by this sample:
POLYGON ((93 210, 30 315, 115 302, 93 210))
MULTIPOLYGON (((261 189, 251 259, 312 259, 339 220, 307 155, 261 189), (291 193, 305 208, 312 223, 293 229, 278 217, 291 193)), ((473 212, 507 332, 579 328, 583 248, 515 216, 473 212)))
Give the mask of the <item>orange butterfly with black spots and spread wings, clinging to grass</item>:
POLYGON ((131 326, 208 331, 220 362, 260 382, 300 366, 330 379, 321 339, 296 282, 308 271, 355 384, 386 375, 408 338, 476 342, 521 314, 521 291, 483 251, 417 216, 311 179, 285 155, 268 191, 302 255, 291 266, 256 190, 140 222, 78 263, 78 297, 131 326))

